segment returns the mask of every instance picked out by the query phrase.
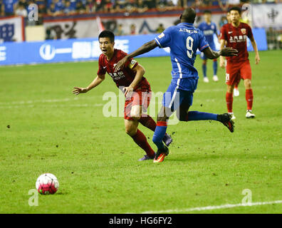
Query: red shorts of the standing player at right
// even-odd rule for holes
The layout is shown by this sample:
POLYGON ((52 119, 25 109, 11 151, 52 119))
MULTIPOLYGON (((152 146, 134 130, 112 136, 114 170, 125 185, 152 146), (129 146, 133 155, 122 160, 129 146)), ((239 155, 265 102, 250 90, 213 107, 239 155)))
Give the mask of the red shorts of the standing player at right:
POLYGON ((251 65, 249 60, 240 63, 230 63, 227 61, 225 83, 229 86, 238 85, 241 78, 251 80, 251 65))

